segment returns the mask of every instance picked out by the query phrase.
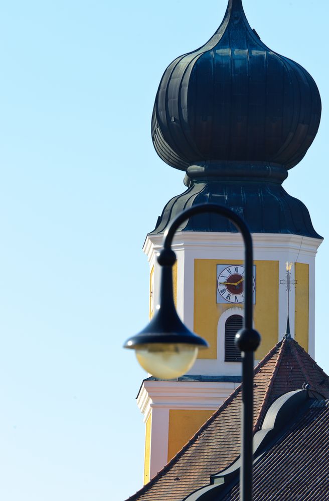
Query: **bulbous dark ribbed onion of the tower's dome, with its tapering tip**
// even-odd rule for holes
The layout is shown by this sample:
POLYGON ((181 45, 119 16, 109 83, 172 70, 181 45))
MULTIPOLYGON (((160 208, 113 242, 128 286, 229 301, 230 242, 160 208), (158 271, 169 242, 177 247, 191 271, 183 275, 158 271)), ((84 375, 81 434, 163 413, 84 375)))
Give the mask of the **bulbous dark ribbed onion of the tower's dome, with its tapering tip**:
POLYGON ((210 161, 214 175, 222 162, 240 160, 289 169, 312 143, 320 113, 312 77, 268 49, 241 0, 229 0, 209 42, 164 72, 152 139, 162 160, 181 170, 210 161))

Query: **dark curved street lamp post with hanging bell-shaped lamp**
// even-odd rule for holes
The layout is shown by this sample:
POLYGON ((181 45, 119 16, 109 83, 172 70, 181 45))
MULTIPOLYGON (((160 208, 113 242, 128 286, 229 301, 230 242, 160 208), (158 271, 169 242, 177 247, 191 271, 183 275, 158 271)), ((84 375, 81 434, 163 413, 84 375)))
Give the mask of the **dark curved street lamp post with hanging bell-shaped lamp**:
POLYGON ((198 349, 208 346, 204 339, 183 324, 176 312, 172 278, 176 255, 171 247, 180 224, 193 215, 205 212, 229 219, 242 234, 245 246, 244 327, 237 332, 235 343, 242 352, 240 500, 252 501, 253 368, 254 351, 259 346, 260 335, 252 328, 252 238, 240 216, 221 205, 205 203, 181 212, 172 221, 164 233, 163 248, 157 258, 161 266, 159 305, 150 323, 139 334, 129 338, 124 348, 136 350, 137 359, 146 371, 163 379, 172 379, 187 372, 197 358, 198 349))

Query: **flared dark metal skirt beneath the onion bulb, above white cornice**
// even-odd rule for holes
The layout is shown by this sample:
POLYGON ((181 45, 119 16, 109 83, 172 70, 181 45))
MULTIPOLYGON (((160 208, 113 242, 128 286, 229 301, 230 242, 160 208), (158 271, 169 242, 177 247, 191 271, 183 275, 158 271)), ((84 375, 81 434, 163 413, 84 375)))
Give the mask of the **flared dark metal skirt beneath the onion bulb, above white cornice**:
MULTIPOLYGON (((213 180, 193 183, 181 195, 172 198, 164 207, 156 227, 150 234, 162 234, 170 222, 198 203, 218 203, 239 214, 252 233, 290 233, 322 238, 313 228, 309 212, 297 198, 273 182, 213 180)), ((189 218, 179 231, 236 232, 236 227, 216 214, 201 214, 189 218)))

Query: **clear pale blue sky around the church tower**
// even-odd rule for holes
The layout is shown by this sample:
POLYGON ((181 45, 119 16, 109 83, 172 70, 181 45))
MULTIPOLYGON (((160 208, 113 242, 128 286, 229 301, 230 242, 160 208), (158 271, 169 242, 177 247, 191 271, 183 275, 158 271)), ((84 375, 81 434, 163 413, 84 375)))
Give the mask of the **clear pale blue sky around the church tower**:
MULTIPOLYGON (((326 240, 316 258, 316 359, 327 328, 327 0, 244 0, 273 50, 322 97, 319 133, 286 190, 326 240)), ((147 322, 141 247, 183 173, 153 150, 161 75, 206 42, 226 0, 3 2, 0 9, 0 497, 121 501, 142 484, 144 377, 122 343, 147 322)))

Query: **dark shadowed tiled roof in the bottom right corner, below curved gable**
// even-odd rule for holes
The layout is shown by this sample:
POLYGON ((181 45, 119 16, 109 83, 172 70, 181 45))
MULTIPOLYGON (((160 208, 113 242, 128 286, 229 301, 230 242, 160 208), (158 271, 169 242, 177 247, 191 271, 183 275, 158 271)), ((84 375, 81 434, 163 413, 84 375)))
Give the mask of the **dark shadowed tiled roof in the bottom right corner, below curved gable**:
MULTIPOLYGON (((329 400, 315 401, 254 465, 253 499, 329 499, 329 400)), ((221 501, 239 500, 236 483, 221 501)))

